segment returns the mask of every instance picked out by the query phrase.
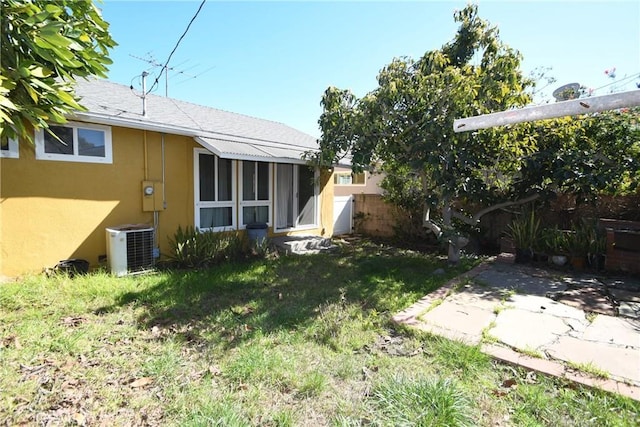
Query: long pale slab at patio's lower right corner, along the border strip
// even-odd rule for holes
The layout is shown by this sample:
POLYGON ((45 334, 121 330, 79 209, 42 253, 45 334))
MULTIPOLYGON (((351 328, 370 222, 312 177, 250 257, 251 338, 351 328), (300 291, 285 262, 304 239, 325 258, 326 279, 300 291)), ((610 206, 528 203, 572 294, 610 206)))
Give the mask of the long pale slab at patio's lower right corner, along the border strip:
POLYGON ((597 341, 560 337, 546 347, 554 359, 578 364, 592 364, 615 378, 624 378, 640 385, 640 352, 597 341))

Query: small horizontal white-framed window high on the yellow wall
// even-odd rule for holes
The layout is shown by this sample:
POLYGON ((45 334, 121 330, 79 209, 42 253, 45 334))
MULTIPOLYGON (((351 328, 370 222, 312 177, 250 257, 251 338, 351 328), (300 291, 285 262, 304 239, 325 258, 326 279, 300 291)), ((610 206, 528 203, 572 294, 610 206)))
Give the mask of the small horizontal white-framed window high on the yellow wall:
POLYGON ((112 163, 111 128, 69 122, 36 132, 36 159, 112 163))

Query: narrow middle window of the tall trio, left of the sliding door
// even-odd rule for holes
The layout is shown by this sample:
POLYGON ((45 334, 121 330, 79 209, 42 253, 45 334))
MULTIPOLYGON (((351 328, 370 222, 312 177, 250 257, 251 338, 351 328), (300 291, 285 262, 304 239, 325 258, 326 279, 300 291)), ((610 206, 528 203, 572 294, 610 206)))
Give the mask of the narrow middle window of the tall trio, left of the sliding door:
POLYGON ((271 165, 240 162, 240 227, 264 222, 271 225, 271 165))

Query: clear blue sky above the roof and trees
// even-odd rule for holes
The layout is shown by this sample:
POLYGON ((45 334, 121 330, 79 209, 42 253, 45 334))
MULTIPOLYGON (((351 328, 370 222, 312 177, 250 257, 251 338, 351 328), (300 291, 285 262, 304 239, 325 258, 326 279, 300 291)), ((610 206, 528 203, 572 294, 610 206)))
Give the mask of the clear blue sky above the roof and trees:
MULTIPOLYGON (((362 96, 394 57, 418 58, 452 39, 466 1, 221 2, 208 0, 169 64, 169 96, 286 123, 319 137, 328 86, 362 96)), ((479 14, 524 56, 525 72, 551 67, 557 83, 631 90, 640 83, 640 2, 486 1, 479 14), (616 68, 616 78, 604 71, 616 68)), ((164 63, 198 1, 98 3, 119 43, 111 81, 140 88, 164 63)), ((155 93, 164 95, 164 76, 155 93)), ((152 114, 152 113, 151 113, 152 114)))

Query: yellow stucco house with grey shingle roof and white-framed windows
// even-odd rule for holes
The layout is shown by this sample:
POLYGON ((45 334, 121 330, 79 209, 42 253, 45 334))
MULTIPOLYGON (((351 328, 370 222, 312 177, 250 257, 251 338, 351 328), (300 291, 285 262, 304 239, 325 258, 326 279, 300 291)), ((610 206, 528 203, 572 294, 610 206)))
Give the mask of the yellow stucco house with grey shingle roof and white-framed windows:
POLYGON ((151 230, 154 257, 178 226, 332 235, 333 180, 302 159, 318 148, 312 136, 155 95, 143 109, 129 87, 104 80, 76 92, 88 111, 51 127, 66 144, 42 131, 34 145, 2 141, 0 276, 71 258, 104 264, 115 247, 107 229, 151 230))

